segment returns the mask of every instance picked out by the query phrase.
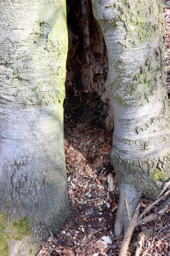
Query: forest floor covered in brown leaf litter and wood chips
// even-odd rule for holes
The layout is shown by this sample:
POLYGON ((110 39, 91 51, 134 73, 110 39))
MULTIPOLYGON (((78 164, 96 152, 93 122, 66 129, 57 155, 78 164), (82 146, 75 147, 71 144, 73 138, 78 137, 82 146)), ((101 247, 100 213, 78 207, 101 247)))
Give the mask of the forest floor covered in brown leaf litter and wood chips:
MULTIPOLYGON (((164 1, 166 22, 166 65, 169 65, 168 1, 164 1)), ((170 70, 167 72, 167 92, 170 93, 170 70)), ((100 98, 66 94, 65 101, 65 157, 68 173, 70 218, 59 234, 42 244, 38 256, 111 256, 118 255, 123 236, 114 237, 113 228, 118 207, 116 175, 109 163, 112 131, 104 127, 100 98)), ((141 199, 141 211, 150 204, 141 199)), ((128 256, 135 254, 138 234, 151 229, 152 234, 143 244, 141 255, 170 255, 169 219, 164 214, 157 221, 135 229, 128 256)))

